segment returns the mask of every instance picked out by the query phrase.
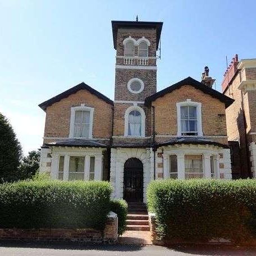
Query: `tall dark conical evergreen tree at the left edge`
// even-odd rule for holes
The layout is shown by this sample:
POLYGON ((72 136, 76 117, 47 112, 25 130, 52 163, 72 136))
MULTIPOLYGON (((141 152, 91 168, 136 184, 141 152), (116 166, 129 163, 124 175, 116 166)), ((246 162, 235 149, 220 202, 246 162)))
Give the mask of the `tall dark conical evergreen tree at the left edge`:
POLYGON ((10 122, 0 113, 0 183, 20 179, 22 149, 10 122))

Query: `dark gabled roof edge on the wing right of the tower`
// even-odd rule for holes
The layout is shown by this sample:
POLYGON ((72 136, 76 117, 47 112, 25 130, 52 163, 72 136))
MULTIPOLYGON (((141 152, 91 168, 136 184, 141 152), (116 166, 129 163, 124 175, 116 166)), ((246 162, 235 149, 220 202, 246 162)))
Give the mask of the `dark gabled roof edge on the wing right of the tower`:
POLYGON ((181 80, 178 83, 161 90, 160 92, 150 95, 145 99, 145 105, 150 105, 157 98, 163 97, 165 94, 171 93, 173 90, 179 89, 183 85, 191 85, 195 89, 202 90, 202 92, 211 95, 213 98, 219 99, 221 102, 225 103, 226 108, 234 102, 234 99, 227 97, 226 95, 218 92, 217 90, 209 88, 208 86, 200 83, 199 81, 196 81, 195 79, 189 76, 184 80, 181 80))

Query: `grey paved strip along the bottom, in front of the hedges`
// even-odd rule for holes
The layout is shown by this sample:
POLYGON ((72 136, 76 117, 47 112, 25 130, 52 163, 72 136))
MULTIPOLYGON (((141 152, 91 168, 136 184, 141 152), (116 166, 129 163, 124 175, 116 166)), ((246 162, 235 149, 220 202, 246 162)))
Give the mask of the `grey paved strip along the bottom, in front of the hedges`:
POLYGON ((162 246, 140 245, 39 245, 39 244, 0 244, 1 256, 241 256, 256 255, 256 248, 220 247, 220 246, 162 246))

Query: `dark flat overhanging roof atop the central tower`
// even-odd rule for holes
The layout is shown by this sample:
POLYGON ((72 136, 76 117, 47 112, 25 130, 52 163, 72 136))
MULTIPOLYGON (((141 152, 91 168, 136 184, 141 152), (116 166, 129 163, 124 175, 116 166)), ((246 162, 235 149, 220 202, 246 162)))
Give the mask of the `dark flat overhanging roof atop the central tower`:
POLYGON ((157 48, 161 36, 163 22, 153 21, 117 21, 112 20, 113 43, 116 49, 116 36, 119 28, 152 28, 157 30, 157 48))

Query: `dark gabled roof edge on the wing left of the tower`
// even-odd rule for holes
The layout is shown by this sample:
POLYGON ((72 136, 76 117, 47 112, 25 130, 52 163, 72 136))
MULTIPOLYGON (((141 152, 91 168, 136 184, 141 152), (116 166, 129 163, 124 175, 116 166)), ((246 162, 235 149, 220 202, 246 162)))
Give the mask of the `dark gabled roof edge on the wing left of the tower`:
POLYGON ((47 107, 51 106, 52 104, 54 104, 56 102, 59 102, 60 100, 62 100, 64 98, 67 98, 69 95, 74 94, 74 93, 78 92, 79 90, 88 90, 90 93, 94 94, 99 99, 103 99, 108 104, 113 105, 113 100, 107 98, 102 93, 98 92, 97 90, 93 89, 89 85, 87 85, 84 82, 82 82, 81 84, 78 84, 78 85, 76 85, 76 86, 66 90, 63 93, 58 94, 57 96, 55 96, 55 97, 53 97, 51 99, 46 100, 45 102, 39 104, 38 106, 40 108, 42 108, 43 110, 45 110, 47 107))

